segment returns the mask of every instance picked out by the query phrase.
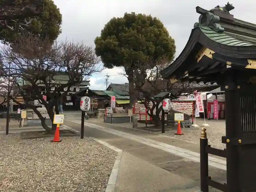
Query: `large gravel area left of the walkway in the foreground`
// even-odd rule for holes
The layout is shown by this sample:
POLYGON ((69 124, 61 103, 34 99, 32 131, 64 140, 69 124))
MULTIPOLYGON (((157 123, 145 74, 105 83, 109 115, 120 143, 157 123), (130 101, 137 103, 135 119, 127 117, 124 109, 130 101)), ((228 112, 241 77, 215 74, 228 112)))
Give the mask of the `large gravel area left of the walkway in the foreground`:
POLYGON ((104 192, 117 155, 88 138, 0 140, 1 192, 104 192))

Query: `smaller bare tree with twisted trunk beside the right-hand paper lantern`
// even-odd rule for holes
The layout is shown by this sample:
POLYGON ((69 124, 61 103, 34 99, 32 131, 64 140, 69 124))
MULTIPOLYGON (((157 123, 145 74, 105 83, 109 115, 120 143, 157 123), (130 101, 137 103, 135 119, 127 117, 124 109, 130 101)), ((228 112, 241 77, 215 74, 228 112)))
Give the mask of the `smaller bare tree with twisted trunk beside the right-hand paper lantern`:
MULTIPOLYGON (((160 61, 155 63, 143 63, 134 69, 135 91, 138 99, 147 108, 147 114, 152 117, 156 127, 161 125, 159 114, 162 112, 162 99, 156 100, 154 96, 161 91, 170 91, 172 98, 180 97, 181 94, 193 94, 196 87, 204 85, 203 82, 176 82, 171 83, 168 79, 161 76, 162 69, 166 68, 169 63, 160 61), (155 67, 152 67, 155 66, 155 67)), ((207 86, 207 85, 206 85, 207 86)), ((172 110, 175 110, 172 108, 172 110)), ((176 110, 175 110, 176 111, 176 110)))

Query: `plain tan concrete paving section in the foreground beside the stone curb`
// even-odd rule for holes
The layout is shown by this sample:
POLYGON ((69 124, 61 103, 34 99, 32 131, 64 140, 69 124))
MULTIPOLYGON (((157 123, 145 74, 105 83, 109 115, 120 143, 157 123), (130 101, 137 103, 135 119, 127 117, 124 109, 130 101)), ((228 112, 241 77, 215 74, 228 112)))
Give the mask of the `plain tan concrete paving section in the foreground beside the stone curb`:
POLYGON ((123 152, 115 192, 196 192, 199 182, 123 152))

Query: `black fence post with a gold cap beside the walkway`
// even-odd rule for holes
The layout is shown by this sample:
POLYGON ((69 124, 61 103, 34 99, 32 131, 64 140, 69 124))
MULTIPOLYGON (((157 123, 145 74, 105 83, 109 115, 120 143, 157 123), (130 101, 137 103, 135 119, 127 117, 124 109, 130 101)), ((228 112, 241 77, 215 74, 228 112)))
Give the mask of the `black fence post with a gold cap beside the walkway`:
POLYGON ((208 154, 206 153, 206 146, 208 139, 206 135, 206 128, 202 128, 200 138, 200 188, 201 192, 209 192, 208 187, 208 154))

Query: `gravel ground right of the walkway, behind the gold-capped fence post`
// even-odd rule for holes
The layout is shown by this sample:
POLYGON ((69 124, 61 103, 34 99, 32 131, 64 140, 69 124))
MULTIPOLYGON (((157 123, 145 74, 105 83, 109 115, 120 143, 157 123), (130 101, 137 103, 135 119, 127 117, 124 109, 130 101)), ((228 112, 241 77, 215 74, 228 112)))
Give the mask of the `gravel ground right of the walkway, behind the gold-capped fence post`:
MULTIPOLYGON (((196 119, 197 125, 202 125, 204 123, 204 119, 196 119)), ((210 125, 210 127, 206 128, 208 142, 212 147, 216 148, 225 148, 225 144, 221 143, 221 137, 226 135, 226 125, 225 120, 213 121, 206 120, 206 123, 210 125)), ((175 139, 187 140, 193 143, 199 143, 199 138, 201 136, 201 128, 199 129, 189 129, 183 128, 182 133, 184 135, 174 135, 176 133, 176 129, 170 131, 166 135, 173 137, 175 139)))

